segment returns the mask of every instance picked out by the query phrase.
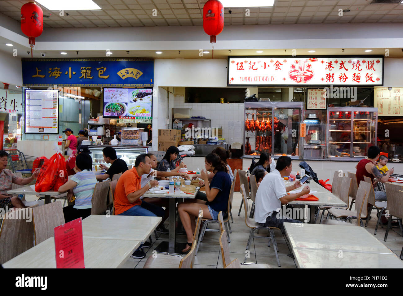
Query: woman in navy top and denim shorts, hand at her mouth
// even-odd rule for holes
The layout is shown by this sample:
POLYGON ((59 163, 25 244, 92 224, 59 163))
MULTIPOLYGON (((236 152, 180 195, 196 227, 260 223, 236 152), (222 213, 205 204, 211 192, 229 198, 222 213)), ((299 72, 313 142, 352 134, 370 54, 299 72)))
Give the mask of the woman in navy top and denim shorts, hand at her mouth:
POLYGON ((178 213, 181 218, 183 228, 185 228, 187 236, 187 246, 182 250, 186 253, 192 246, 193 233, 196 228, 196 217, 199 215, 199 210, 202 209, 204 218, 218 219, 218 213, 226 213, 228 210, 228 199, 231 191, 231 178, 226 172, 227 166, 221 161, 220 157, 215 153, 210 153, 204 158, 206 170, 200 172, 201 178, 206 186, 207 201, 194 199, 191 202, 180 203, 178 205, 178 213), (210 184, 208 173, 213 172, 214 177, 210 184))

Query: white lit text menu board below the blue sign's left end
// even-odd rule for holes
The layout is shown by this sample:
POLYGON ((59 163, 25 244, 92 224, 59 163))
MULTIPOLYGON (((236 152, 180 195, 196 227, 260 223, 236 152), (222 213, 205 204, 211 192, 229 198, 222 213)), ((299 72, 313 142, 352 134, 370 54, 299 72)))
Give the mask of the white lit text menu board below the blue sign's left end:
POLYGON ((25 133, 59 133, 58 92, 45 89, 25 90, 25 133))

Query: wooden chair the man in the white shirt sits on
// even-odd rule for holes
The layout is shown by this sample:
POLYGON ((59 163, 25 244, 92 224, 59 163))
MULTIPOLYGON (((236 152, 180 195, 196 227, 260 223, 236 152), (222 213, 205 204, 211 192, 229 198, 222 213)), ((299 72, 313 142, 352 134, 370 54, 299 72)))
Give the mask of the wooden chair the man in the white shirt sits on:
MULTIPOLYGON (((241 185, 241 195, 242 195, 242 199, 243 199, 243 205, 244 205, 244 208, 245 208, 245 224, 246 224, 247 227, 249 227, 251 229, 251 231, 249 233, 249 239, 248 239, 248 242, 246 244, 246 250, 249 249, 249 246, 250 246, 252 238, 265 238, 265 239, 268 239, 269 240, 268 246, 270 246, 270 240, 273 240, 274 254, 276 255, 278 267, 280 267, 281 265, 280 265, 280 258, 278 257, 278 247, 277 247, 276 237, 274 236, 274 231, 273 231, 274 229, 280 230, 280 228, 260 226, 259 223, 255 222, 255 220, 250 218, 249 217, 249 204, 247 203, 247 200, 246 200, 245 187, 243 186, 243 184, 241 185), (270 234, 270 237, 268 237, 268 236, 255 236, 254 235, 255 231, 260 230, 260 229, 268 230, 268 232, 270 234)), ((243 262, 245 262, 245 261, 246 261, 246 257, 245 257, 243 262)))

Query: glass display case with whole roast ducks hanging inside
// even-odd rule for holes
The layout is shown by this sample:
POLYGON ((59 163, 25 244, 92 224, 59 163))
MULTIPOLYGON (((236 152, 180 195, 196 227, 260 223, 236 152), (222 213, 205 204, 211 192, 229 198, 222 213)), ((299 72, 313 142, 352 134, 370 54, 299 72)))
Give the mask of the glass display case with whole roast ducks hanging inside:
POLYGON ((244 157, 262 152, 273 156, 299 158, 303 102, 246 102, 244 128, 244 157))

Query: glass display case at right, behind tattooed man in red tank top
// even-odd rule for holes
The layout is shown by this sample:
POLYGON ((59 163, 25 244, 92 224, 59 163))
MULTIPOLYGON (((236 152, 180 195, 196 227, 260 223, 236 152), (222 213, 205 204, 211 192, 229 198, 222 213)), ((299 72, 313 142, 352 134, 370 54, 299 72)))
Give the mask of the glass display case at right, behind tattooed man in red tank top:
POLYGON ((330 159, 364 158, 377 144, 378 108, 328 108, 328 118, 330 159))

